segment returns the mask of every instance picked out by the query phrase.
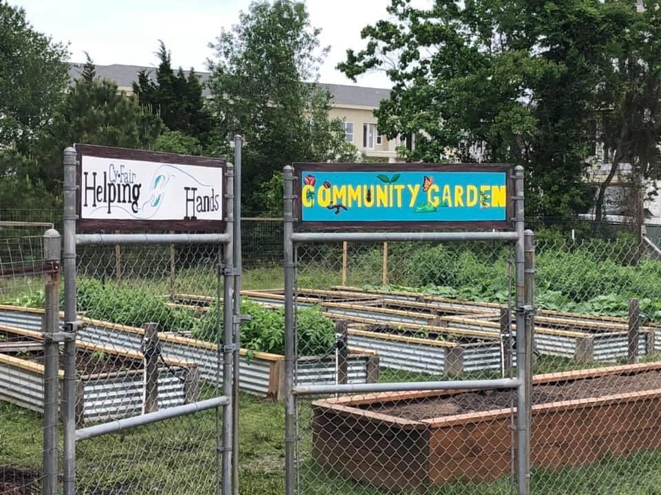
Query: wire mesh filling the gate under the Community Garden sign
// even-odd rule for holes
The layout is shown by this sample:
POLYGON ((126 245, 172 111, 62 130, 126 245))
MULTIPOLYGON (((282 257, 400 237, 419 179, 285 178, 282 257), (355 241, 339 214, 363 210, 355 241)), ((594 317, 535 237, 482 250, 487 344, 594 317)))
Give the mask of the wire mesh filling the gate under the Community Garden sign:
POLYGON ((516 390, 415 389, 516 375, 512 248, 301 244, 296 260, 296 383, 408 382, 298 399, 297 493, 516 492, 516 390))

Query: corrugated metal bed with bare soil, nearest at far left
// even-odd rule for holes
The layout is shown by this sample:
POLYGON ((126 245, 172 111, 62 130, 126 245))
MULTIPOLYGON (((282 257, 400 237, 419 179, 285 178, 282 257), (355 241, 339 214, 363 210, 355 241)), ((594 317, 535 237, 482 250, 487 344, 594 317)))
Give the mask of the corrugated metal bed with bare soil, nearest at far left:
MULTIPOLYGON (((39 314, 37 314, 39 316, 39 314)), ((0 325, 0 399, 43 412, 43 333, 0 325)), ((143 409, 144 366, 139 353, 76 340, 76 423, 139 415, 143 409)), ((59 380, 64 380, 60 359, 59 380)), ((158 407, 198 399, 194 362, 165 360, 158 367, 158 407)))

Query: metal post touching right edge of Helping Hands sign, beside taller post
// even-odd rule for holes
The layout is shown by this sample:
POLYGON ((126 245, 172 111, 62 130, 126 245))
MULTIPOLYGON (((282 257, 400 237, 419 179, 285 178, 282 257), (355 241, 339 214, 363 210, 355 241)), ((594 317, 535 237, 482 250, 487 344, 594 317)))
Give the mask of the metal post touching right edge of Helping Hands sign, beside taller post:
MULTIPOLYGON (((228 234, 234 230, 234 166, 227 164, 225 173, 225 224, 228 234)), ((222 390, 223 395, 229 399, 229 404, 224 406, 222 412, 222 495, 230 495, 232 491, 232 371, 233 371, 233 346, 232 333, 234 322, 233 285, 234 285, 234 247, 232 243, 225 245, 223 251, 223 322, 222 339, 220 328, 218 329, 218 348, 222 348, 222 390)))

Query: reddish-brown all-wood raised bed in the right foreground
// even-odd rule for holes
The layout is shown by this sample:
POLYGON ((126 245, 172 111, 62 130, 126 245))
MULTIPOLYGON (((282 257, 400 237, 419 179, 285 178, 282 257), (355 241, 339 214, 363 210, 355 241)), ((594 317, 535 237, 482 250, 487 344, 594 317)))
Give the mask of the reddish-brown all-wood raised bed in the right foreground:
MULTIPOLYGON (((661 363, 537 375, 533 383, 534 467, 661 448, 661 363)), ((315 401, 312 455, 388 489, 493 481, 511 469, 510 395, 427 391, 315 401)))

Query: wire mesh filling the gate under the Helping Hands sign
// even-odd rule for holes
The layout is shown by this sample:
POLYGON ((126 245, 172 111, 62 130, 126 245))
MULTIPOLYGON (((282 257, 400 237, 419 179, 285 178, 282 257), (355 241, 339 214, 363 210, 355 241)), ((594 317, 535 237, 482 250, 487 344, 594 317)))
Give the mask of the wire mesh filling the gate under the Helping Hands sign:
MULTIPOLYGON (((79 428, 222 395, 221 249, 79 248, 79 428)), ((214 408, 78 441, 77 493, 219 493, 221 419, 214 408)))

